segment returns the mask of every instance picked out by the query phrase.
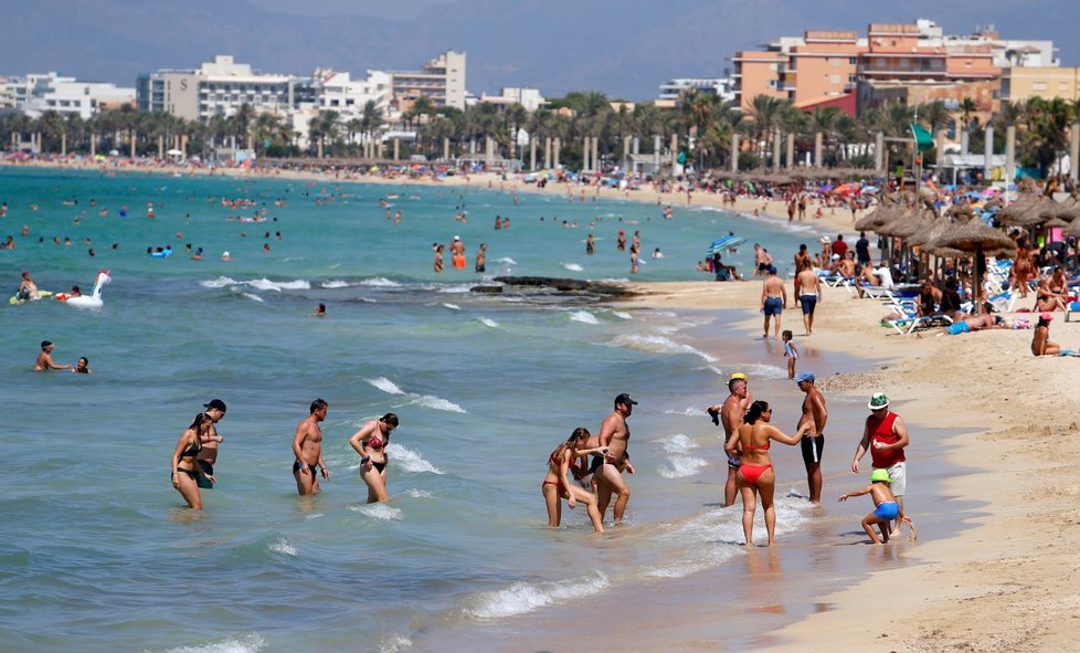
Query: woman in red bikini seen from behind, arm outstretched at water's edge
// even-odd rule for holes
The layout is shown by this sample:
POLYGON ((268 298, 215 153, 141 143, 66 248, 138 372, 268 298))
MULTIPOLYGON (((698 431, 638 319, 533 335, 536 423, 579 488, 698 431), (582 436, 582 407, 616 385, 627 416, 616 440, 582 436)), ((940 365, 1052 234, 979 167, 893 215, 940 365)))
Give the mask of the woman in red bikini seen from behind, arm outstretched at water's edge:
POLYGON ((754 544, 754 513, 758 509, 758 496, 761 496, 761 507, 765 512, 765 530, 769 534, 769 546, 775 543, 776 512, 773 508, 773 491, 776 485, 776 474, 773 472, 772 460, 769 457, 769 445, 772 440, 783 444, 795 445, 803 434, 813 428, 813 422, 800 426, 794 435, 785 435, 780 429, 769 423, 773 411, 765 401, 755 401, 728 443, 724 451, 733 454, 742 446, 742 464, 735 474, 739 493, 742 494, 742 531, 747 537, 747 546, 754 544))

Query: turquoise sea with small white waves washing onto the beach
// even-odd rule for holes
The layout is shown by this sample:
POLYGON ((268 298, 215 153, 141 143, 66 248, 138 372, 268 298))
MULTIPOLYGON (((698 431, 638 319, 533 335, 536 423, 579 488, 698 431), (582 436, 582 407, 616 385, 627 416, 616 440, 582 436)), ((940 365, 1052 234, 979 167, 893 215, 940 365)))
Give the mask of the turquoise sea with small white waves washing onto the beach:
MULTIPOLYGON (((640 233, 633 281, 707 281, 697 262, 730 232, 748 243, 727 263, 749 273, 761 242, 784 272, 797 245, 823 233, 813 225, 686 206, 665 220, 652 202, 571 201, 553 187, 126 169, 0 168, 0 239, 17 244, 0 250, 10 294, 23 271, 53 292, 77 284, 88 294, 99 270, 112 278, 97 309, 53 299, 0 308, 10 418, 0 650, 606 650, 589 623, 723 613, 747 600, 739 582, 779 575, 775 597, 760 601, 780 610, 724 621, 724 647, 749 650, 761 629, 825 609, 812 598, 829 583, 908 564, 847 546, 861 541, 869 503, 811 506, 796 450, 774 456, 777 534, 792 544, 779 559, 742 546, 741 509, 721 506, 720 431, 703 409, 735 371, 773 400, 782 428, 794 429, 801 399, 779 349, 737 326, 755 307, 673 312, 473 291, 499 275, 629 281, 620 231, 640 233), (497 215, 509 228, 495 230, 497 215), (447 251, 436 273, 433 243, 455 238, 466 268, 447 251), (171 255, 148 255, 166 246, 171 255), (313 317, 320 303, 326 317, 313 317), (93 373, 30 371, 45 339, 56 362, 85 356, 93 373), (575 426, 596 432, 621 392, 639 401, 626 524, 595 535, 583 510, 564 509, 563 526, 548 528, 548 455, 575 426), (170 456, 213 398, 227 404, 218 485, 191 510, 171 486, 170 456), (292 436, 316 398, 329 402, 330 478, 298 497, 292 436), (401 421, 388 449, 391 499, 368 505, 347 440, 387 412, 401 421)), ((806 356, 819 373, 866 365, 813 347, 806 356)), ((832 476, 865 417, 844 401, 830 404, 830 425, 847 431, 827 459, 832 476)), ((959 508, 941 498, 940 520, 924 517, 931 533, 955 527, 945 514, 959 508)), ((764 539, 760 515, 758 527, 764 539)), ((684 632, 719 641, 710 619, 684 632)))

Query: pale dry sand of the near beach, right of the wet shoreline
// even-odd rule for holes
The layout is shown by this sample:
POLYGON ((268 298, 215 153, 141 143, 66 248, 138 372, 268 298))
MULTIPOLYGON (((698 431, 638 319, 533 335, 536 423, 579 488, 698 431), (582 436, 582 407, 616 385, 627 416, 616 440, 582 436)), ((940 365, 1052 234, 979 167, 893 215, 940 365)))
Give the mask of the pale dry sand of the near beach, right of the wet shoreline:
MULTIPOLYGON (((755 310, 758 283, 649 284, 649 306, 755 310)), ((1071 546, 1078 537, 1072 499, 1080 482, 1071 465, 1080 444, 1078 401, 1067 389, 1072 358, 1035 358, 1031 331, 900 336, 878 326, 886 309, 843 288, 826 288, 813 340, 820 349, 887 360, 875 373, 819 380, 828 396, 856 399, 883 390, 912 426, 910 465, 935 455, 919 424, 967 432, 949 442, 957 465, 974 473, 945 480, 959 497, 981 502, 974 528, 943 541, 920 540, 903 555, 920 565, 873 573, 820 597, 830 609, 774 633, 775 651, 1049 651, 1071 647, 1080 601, 1071 546), (1018 391, 1014 391, 1018 390, 1018 391)), ((801 316, 785 313, 796 334, 801 316)), ((756 326, 754 313, 744 325, 756 326)), ((760 328, 760 327, 758 327, 760 328)), ((1059 314, 1052 337, 1076 345, 1080 333, 1059 314)), ((857 435, 856 435, 857 436, 857 435)), ((850 456, 833 450, 833 455, 850 456)), ((864 461, 864 466, 866 462, 864 461)), ((853 482, 855 476, 853 475, 853 482)), ((836 488, 826 487, 826 501, 836 488), (832 489, 832 492, 830 492, 832 489)), ((918 524, 918 491, 909 488, 918 524)))

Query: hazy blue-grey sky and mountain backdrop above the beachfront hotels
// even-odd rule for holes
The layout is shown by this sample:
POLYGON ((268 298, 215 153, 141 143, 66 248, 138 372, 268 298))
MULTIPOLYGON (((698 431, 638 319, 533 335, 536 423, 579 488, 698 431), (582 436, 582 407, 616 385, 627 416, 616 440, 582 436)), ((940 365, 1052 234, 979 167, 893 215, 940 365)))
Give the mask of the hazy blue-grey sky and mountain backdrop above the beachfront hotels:
POLYGON ((807 29, 927 18, 945 33, 995 24, 1052 40, 1080 66, 1076 0, 0 0, 0 75, 56 71, 135 86, 139 73, 232 54, 267 73, 419 70, 467 54, 467 88, 601 91, 647 101, 674 77, 722 76, 738 50, 807 29))

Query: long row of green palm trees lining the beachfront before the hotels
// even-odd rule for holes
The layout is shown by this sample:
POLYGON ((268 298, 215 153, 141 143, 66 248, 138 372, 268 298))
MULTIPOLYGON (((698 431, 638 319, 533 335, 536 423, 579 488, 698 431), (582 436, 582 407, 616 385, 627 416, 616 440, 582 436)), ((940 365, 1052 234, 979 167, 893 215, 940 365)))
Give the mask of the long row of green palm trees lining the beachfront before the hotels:
MULTIPOLYGON (((600 92, 570 93, 550 101, 548 106, 528 112, 519 104, 499 107, 480 103, 459 110, 436 107, 426 97, 419 98, 401 115, 396 127, 414 133, 415 140, 402 145, 402 156, 423 154, 441 158, 444 143, 452 156, 466 157, 483 151, 490 138, 506 158, 529 159, 518 145, 527 133, 540 144, 559 139, 563 144, 561 162, 578 166, 584 158, 585 137, 596 138, 602 159, 620 162, 627 137, 637 138, 640 154, 654 151, 654 137, 668 147, 673 136, 697 169, 730 166, 732 135, 738 134, 741 169, 767 166, 773 139, 786 140, 794 135, 796 152, 814 150, 816 134, 822 135, 822 161, 825 166, 870 167, 865 152, 877 133, 887 137, 906 137, 909 126, 920 123, 934 135, 955 129, 966 130, 971 151, 982 151, 986 127, 995 126, 995 151, 1004 150, 1005 127, 1017 131, 1017 161, 1046 172, 1068 148, 1070 125, 1080 120, 1080 101, 1033 98, 1012 103, 981 122, 974 103, 965 99, 954 109, 942 102, 920 106, 892 103, 851 117, 838 108, 818 108, 812 113, 797 109, 791 102, 765 95, 753 98, 748 110, 719 99, 716 95, 689 91, 675 109, 653 103, 632 105, 612 102, 600 92), (864 147, 860 147, 864 146, 864 147), (860 154, 864 152, 864 154, 860 154)), ((183 137, 186 150, 209 154, 232 146, 254 148, 261 156, 385 156, 370 144, 383 140, 388 125, 381 110, 369 102, 357 115, 322 110, 308 125, 308 147, 299 147, 299 134, 290 119, 271 113, 257 113, 251 105, 241 106, 232 116, 213 116, 205 122, 183 120, 162 112, 136 112, 130 107, 103 112, 88 120, 77 115, 45 112, 29 118, 18 112, 0 114, 0 143, 11 144, 40 134, 41 149, 46 152, 87 152, 92 137, 97 151, 119 150, 127 155, 134 143, 137 155, 156 156, 159 147, 171 148, 183 137), (13 139, 13 136, 17 138, 13 139), (364 145, 369 144, 369 145, 364 145)), ((935 152, 930 152, 931 158, 935 152)), ((798 155, 797 155, 798 156, 798 155)))

